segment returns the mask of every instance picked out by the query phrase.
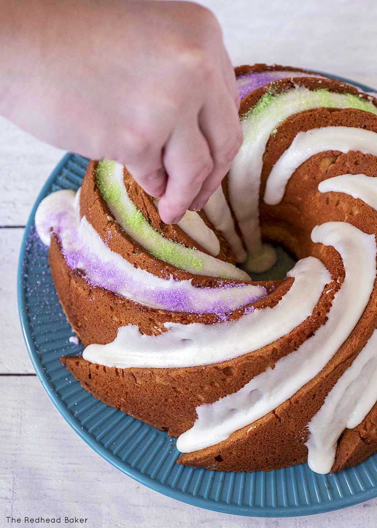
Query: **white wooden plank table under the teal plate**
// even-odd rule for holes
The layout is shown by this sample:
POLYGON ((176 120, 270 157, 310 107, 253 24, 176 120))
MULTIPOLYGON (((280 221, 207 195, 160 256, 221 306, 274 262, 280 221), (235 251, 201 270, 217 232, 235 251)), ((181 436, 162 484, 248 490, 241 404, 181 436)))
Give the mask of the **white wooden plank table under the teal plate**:
MULTIPOLYGON (((375 0, 204 3, 223 25, 234 64, 291 64, 377 87, 375 0)), ((6 516, 61 516, 62 523, 65 516, 86 517, 86 526, 96 528, 376 526, 377 499, 294 519, 250 520, 200 510, 122 475, 65 423, 33 373, 16 305, 23 226, 62 154, 0 118, 0 526, 8 525, 6 516)))

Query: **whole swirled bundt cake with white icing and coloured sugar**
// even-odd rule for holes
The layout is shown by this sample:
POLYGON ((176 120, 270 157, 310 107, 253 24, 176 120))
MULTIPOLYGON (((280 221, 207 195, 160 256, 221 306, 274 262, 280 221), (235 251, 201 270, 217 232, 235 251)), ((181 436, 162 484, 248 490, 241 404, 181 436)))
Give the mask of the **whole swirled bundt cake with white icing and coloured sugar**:
POLYGON ((61 361, 178 437, 180 464, 338 471, 377 451, 377 100, 297 68, 236 76, 243 144, 202 211, 164 224, 106 159, 76 195, 41 202, 36 228, 86 347, 61 361), (297 259, 282 280, 258 275, 271 243, 297 259))

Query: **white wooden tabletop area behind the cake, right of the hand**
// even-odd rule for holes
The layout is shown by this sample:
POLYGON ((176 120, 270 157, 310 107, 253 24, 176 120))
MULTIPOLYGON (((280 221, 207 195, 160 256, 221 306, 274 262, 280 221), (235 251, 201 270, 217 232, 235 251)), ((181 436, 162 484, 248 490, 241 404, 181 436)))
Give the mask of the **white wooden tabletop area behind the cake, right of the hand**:
MULTIPOLYGON (((222 25, 233 64, 290 64, 377 84, 374 0, 201 0, 222 25), (362 6, 362 8, 360 8, 362 6)), ((377 88, 377 87, 376 87, 377 88)))

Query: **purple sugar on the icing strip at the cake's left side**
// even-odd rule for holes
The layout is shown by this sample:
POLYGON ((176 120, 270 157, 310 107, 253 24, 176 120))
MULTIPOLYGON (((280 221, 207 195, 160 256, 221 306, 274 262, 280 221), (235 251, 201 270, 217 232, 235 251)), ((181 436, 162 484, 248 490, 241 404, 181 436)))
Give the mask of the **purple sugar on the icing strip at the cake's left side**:
MULTIPOLYGON (((49 219, 46 219, 46 224, 54 226, 53 233, 60 240, 60 235, 64 233, 62 252, 67 265, 71 269, 83 270, 84 279, 93 287, 105 288, 117 295, 124 294, 127 298, 135 299, 135 301, 144 304, 159 305, 171 312, 216 314, 220 320, 227 320, 231 310, 255 303, 267 295, 265 288, 262 288, 263 295, 261 297, 254 295, 245 297, 242 295, 243 284, 220 283, 221 286, 218 288, 192 288, 188 290, 177 287, 179 281, 172 281, 171 288, 150 287, 129 276, 126 270, 116 267, 114 262, 102 260, 98 255, 92 253, 89 247, 80 240, 76 222, 72 211, 56 212, 49 219), (235 303, 231 294, 231 292, 234 294, 234 287, 240 289, 239 304, 235 303), (214 295, 216 291, 223 294, 224 291, 229 290, 229 296, 228 298, 225 296, 225 299, 208 299, 208 303, 199 306, 203 304, 203 301, 199 299, 199 294, 202 293, 203 289, 210 290, 211 295, 214 295)), ((107 244, 105 243, 105 245, 107 244)))

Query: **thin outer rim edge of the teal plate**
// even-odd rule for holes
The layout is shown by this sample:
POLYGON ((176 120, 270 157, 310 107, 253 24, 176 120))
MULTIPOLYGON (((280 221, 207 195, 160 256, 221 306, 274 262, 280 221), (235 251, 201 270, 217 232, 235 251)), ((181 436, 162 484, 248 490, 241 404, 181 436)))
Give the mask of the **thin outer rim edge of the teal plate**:
MULTIPOLYGON (((318 72, 318 73, 324 73, 324 72, 318 72)), ((354 86, 357 86, 361 90, 366 91, 366 92, 376 91, 374 88, 368 87, 365 84, 361 84, 359 82, 355 82, 350 79, 334 76, 333 74, 329 74, 329 73, 324 73, 324 74, 328 77, 332 77, 340 81, 351 83, 354 86)), ((56 409, 58 409, 61 416, 64 418, 65 421, 67 421, 67 423, 79 435, 79 437, 84 442, 86 442, 86 444, 88 444, 94 451, 96 451, 99 456, 107 460, 109 464, 117 468, 120 472, 124 473, 125 475, 133 478, 140 484, 143 484, 147 486, 148 488, 153 489, 156 492, 159 492, 163 495, 174 498, 183 503, 201 507, 206 510, 220 512, 220 513, 228 513, 228 514, 233 514, 233 515, 251 516, 251 517, 293 517, 293 516, 302 516, 302 515, 314 515, 318 513, 325 513, 325 512, 340 510, 341 508, 353 506, 355 504, 360 504, 361 502, 377 497, 377 485, 376 485, 372 489, 369 489, 368 491, 361 491, 361 492, 355 493, 352 497, 342 497, 342 498, 335 499, 332 503, 322 503, 322 504, 316 504, 316 505, 314 504, 302 505, 301 504, 299 506, 287 506, 287 507, 274 507, 274 506, 259 507, 259 506, 242 506, 242 505, 239 506, 239 505, 227 504, 227 503, 222 503, 222 502, 216 502, 216 501, 213 501, 212 499, 205 499, 203 497, 193 496, 190 493, 183 492, 179 489, 175 489, 169 486, 168 484, 163 484, 159 482, 158 480, 156 480, 155 478, 152 478, 148 475, 143 474, 136 467, 131 467, 127 462, 122 462, 117 456, 112 454, 112 452, 109 449, 105 448, 96 438, 94 438, 93 435, 91 435, 91 433, 81 428, 79 420, 77 420, 74 416, 72 416, 72 414, 67 409, 67 407, 65 406, 64 402, 61 400, 59 395, 55 393, 55 388, 53 387, 48 377, 45 375, 42 369, 42 366, 39 362, 39 357, 37 355, 36 347, 34 346, 33 338, 31 335, 32 325, 30 325, 29 320, 27 319, 27 314, 26 314, 27 303, 26 303, 26 298, 25 298, 25 290, 23 288, 23 261, 24 261, 24 257, 26 254, 26 246, 27 246, 26 242, 27 242, 27 237, 29 235, 30 229, 34 224, 34 215, 35 215, 36 208, 41 202, 41 200, 43 199, 43 197, 48 193, 50 186, 55 181, 56 177, 62 172, 62 169, 67 165, 67 163, 70 161, 72 156, 74 156, 74 154, 67 153, 62 157, 58 165, 56 165, 56 167, 53 169, 53 172, 49 176, 48 180, 46 180, 45 184, 42 187, 42 190, 40 191, 33 205, 32 211, 29 216, 29 220, 27 221, 27 224, 25 227, 22 244, 21 244, 20 256, 18 258, 17 300, 18 300, 18 313, 20 316, 20 322, 21 322, 21 327, 22 327, 22 332, 23 332, 26 348, 29 353, 30 360, 32 362, 36 375, 39 378, 44 390, 48 394, 50 400, 52 401, 56 409)), ((84 389, 82 389, 82 391, 84 391, 84 389)))

